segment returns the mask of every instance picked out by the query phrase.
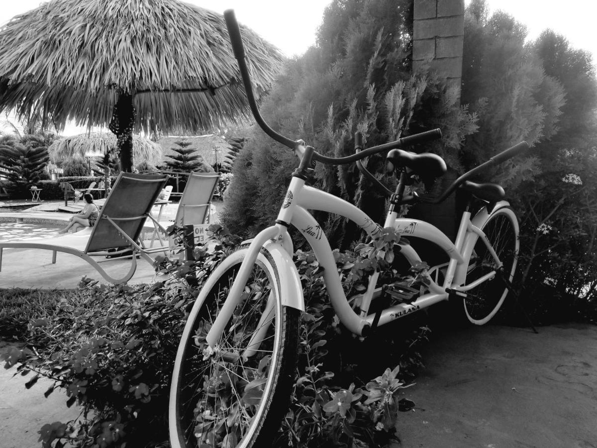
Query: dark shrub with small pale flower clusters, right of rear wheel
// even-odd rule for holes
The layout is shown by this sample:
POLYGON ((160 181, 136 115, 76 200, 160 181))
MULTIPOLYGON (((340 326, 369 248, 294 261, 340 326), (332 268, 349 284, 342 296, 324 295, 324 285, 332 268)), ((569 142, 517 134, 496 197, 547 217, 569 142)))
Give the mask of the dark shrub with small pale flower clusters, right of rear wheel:
POLYGON ((519 284, 536 323, 597 320, 597 152, 559 152, 516 201, 519 284))

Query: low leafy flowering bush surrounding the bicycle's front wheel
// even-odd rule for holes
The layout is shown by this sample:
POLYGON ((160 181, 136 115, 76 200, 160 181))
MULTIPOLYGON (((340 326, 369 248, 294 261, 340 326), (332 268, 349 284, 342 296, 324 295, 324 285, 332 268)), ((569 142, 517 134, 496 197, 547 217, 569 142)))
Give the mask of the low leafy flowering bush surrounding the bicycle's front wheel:
MULTIPOLYGON (((51 312, 32 316, 28 348, 8 352, 6 366, 18 364, 22 375, 30 375, 27 387, 39 375, 53 379, 45 395, 58 386, 66 389, 67 406, 78 403, 85 416, 76 427, 73 422, 44 425, 44 446, 167 446, 168 388, 187 311, 217 261, 240 241, 217 225, 211 231, 219 240, 213 253, 199 246, 193 261, 158 260, 156 268, 170 274, 164 283, 100 286, 84 278, 77 294, 61 298, 51 312)), ((353 253, 336 252, 347 290, 361 289, 370 269, 384 263, 382 251, 396 236, 386 237, 353 253)), ((396 339, 380 332, 356 341, 334 318, 313 254, 299 252, 296 263, 306 291, 304 342, 293 401, 273 446, 385 443, 395 437, 396 411, 413 406, 399 399, 405 387, 396 378, 399 369, 408 377, 420 364, 416 352, 429 330, 414 321, 402 325, 408 333, 396 339), (373 355, 378 351, 371 348, 380 346, 384 357, 373 355), (388 364, 401 367, 386 369, 388 364)))

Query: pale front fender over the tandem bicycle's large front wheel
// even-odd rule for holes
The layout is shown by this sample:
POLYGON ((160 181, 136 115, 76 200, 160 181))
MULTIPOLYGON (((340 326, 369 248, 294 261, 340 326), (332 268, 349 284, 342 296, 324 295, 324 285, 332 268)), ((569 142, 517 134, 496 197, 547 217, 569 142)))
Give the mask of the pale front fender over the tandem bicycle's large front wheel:
POLYGON ((292 257, 282 246, 273 241, 267 241, 263 248, 272 256, 274 267, 278 269, 282 305, 304 312, 303 285, 300 283, 300 276, 292 257))

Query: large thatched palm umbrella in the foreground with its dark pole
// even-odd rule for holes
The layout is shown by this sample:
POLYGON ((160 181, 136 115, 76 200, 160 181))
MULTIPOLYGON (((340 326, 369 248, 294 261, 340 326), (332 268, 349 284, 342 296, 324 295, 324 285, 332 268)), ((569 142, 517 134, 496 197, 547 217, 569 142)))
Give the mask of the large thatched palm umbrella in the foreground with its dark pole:
MULTIPOLYGON (((282 56, 241 27, 259 94, 282 56)), ((132 132, 205 133, 248 118, 220 14, 176 0, 53 0, 0 29, 0 111, 103 126, 131 169, 132 132)))

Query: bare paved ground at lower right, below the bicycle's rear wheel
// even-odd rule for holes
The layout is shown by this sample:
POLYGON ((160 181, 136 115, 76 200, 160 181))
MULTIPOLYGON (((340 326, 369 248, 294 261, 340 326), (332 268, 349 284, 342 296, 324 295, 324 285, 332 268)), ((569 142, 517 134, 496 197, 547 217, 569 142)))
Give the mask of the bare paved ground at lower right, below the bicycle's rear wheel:
POLYGON ((597 327, 538 330, 435 335, 396 447, 597 447, 597 327))

